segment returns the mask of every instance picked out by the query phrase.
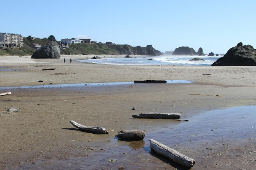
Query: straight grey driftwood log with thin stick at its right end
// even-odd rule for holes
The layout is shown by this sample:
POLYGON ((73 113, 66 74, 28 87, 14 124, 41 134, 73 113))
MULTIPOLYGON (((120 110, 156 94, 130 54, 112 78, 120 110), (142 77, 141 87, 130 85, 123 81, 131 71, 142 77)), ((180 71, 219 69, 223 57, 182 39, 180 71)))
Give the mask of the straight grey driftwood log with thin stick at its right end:
POLYGON ((133 118, 161 118, 161 119, 180 119, 180 113, 140 113, 132 115, 133 118))

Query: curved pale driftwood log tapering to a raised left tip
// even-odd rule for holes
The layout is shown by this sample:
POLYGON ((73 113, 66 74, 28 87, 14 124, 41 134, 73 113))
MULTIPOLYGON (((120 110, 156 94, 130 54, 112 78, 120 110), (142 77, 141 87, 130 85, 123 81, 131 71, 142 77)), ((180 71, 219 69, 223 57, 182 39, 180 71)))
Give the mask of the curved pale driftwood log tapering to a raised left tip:
POLYGON ((76 128, 79 128, 83 132, 89 132, 94 134, 108 134, 108 131, 105 128, 101 127, 92 127, 92 126, 83 126, 81 124, 76 123, 73 120, 70 120, 70 123, 75 126, 76 128))

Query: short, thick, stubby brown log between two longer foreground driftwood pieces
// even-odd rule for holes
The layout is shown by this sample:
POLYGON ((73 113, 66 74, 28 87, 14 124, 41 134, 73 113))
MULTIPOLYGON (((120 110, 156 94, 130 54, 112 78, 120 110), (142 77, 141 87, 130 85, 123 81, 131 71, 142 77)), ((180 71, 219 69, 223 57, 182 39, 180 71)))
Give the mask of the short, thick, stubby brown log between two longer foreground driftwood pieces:
POLYGON ((121 130, 117 135, 121 141, 140 141, 145 137, 143 130, 121 130))

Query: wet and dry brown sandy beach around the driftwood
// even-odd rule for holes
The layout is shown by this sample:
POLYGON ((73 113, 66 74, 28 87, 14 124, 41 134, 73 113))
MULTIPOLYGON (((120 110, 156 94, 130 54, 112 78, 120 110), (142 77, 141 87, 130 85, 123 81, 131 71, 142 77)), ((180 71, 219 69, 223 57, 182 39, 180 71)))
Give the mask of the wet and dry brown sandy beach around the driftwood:
MULTIPOLYGON (((93 56, 90 55, 89 58, 93 56)), ((105 56, 105 58, 124 56, 113 55, 105 56)), ((103 152, 107 150, 104 146, 106 141, 115 139, 115 135, 120 130, 142 129, 150 132, 155 126, 159 126, 158 120, 137 121, 131 118, 132 114, 181 113, 182 119, 190 119, 208 110, 256 105, 255 66, 99 65, 76 62, 76 60, 87 59, 87 55, 63 55, 60 59, 31 59, 30 57, 0 56, 0 70, 10 70, 0 71, 0 93, 8 91, 12 93, 0 96, 1 170, 107 170, 118 169, 120 166, 132 169, 128 168, 128 164, 132 163, 141 170, 156 170, 159 167, 173 170, 175 168, 166 163, 166 160, 157 159, 147 152, 143 153, 143 160, 139 159, 136 162, 137 159, 135 159, 127 164, 125 161, 119 164, 90 161, 92 166, 89 168, 79 168, 74 163, 73 166, 66 166, 69 163, 72 164, 71 160, 76 160, 76 157, 84 157, 84 161, 87 158, 93 160, 93 157, 99 159, 100 154, 104 154, 103 152), (71 64, 70 58, 72 58, 71 64), (42 71, 43 68, 56 69, 42 71), (133 82, 146 79, 194 82, 189 84, 85 85, 65 88, 6 88, 133 82), (7 108, 11 107, 19 108, 20 111, 7 112, 7 108), (133 107, 136 109, 132 110, 133 107), (85 126, 104 127, 110 133, 95 135, 72 130, 74 126, 70 124, 70 120, 85 126), (75 151, 70 151, 74 149, 75 151)), ((255 122, 255 119, 252 121, 255 122)), ((254 169, 256 162, 255 130, 249 135, 252 137, 245 137, 248 140, 243 141, 242 144, 227 141, 225 145, 211 150, 211 153, 202 150, 197 153, 181 152, 195 159, 196 163, 192 169, 254 169), (227 145, 231 147, 226 147, 227 145), (216 156, 224 151, 225 156, 216 156)), ((126 145, 126 143, 121 143, 121 145, 126 145)), ((148 141, 145 141, 144 146, 148 146, 148 141)), ((120 155, 124 155, 123 153, 121 152, 120 155)), ((180 167, 177 169, 182 170, 180 167)))

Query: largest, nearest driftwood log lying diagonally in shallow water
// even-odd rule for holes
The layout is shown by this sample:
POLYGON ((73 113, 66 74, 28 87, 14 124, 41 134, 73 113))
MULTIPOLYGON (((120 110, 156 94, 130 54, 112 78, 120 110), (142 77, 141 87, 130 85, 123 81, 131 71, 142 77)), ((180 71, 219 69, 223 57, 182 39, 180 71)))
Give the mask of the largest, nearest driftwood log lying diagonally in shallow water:
POLYGON ((195 160, 187 157, 186 155, 181 154, 180 152, 177 152, 174 149, 169 148, 168 146, 165 146, 153 139, 150 139, 150 148, 154 152, 156 152, 159 155, 163 155, 175 163, 179 163, 180 165, 192 168, 195 164, 195 160))

